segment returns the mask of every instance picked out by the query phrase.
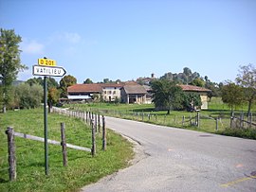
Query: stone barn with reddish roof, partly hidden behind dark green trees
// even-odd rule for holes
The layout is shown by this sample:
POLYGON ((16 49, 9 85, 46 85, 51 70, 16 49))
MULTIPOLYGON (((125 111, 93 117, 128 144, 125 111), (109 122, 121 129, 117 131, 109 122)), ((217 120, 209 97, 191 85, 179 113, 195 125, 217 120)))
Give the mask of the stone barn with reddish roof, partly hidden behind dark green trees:
POLYGON ((210 89, 193 85, 179 85, 184 92, 198 94, 201 97, 202 110, 208 109, 208 94, 211 92, 210 89))

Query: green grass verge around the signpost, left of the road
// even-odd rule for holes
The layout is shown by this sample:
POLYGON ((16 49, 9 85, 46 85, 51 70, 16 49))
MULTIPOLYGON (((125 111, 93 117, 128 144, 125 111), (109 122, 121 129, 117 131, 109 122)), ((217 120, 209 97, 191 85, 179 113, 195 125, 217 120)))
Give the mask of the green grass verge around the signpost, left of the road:
MULTIPOLYGON (((101 150, 97 135, 97 154, 67 148, 63 166, 62 147, 49 145, 49 175, 45 175, 44 143, 15 137, 17 180, 9 182, 7 127, 14 131, 44 137, 43 109, 0 113, 0 191, 80 191, 88 183, 129 166, 132 144, 114 131, 107 130, 107 150, 101 150)), ((48 114, 48 139, 61 140, 60 123, 65 123, 66 142, 91 148, 91 129, 82 120, 48 114)))

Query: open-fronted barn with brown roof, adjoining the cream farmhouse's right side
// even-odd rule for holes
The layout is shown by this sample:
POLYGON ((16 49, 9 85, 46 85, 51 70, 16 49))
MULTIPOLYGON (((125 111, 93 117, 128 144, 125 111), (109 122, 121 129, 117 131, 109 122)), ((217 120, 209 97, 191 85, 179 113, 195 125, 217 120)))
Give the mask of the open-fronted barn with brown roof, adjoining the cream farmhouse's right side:
POLYGON ((146 103, 146 89, 139 84, 126 84, 121 90, 121 102, 123 103, 137 103, 144 104, 146 103))

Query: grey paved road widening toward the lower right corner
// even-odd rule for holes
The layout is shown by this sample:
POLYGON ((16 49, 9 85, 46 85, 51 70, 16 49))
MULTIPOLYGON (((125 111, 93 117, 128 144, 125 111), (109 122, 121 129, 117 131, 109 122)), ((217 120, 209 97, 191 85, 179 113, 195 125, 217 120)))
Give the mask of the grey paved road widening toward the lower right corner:
POLYGON ((256 192, 256 141, 106 118, 140 145, 135 165, 82 191, 256 192))

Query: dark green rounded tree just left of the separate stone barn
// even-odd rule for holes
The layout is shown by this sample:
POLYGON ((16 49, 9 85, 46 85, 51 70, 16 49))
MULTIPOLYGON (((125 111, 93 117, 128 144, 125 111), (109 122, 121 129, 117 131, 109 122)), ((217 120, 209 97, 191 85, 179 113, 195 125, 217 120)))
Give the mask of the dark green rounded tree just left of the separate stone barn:
POLYGON ((167 114, 170 114, 171 110, 182 107, 183 91, 174 82, 166 79, 154 80, 152 89, 155 108, 167 110, 167 114))

